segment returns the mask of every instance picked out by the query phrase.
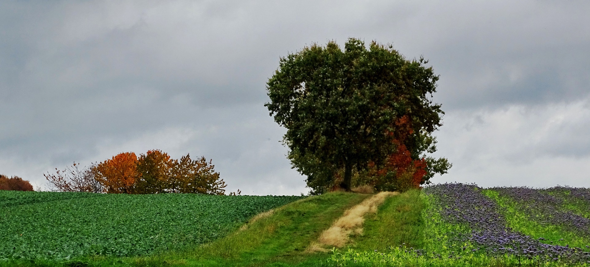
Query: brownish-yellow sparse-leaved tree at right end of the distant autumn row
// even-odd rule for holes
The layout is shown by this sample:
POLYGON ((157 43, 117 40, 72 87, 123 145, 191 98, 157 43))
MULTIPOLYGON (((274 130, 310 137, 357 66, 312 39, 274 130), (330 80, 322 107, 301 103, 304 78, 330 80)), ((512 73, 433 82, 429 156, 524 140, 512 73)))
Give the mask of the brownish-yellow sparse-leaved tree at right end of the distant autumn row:
POLYGON ((190 154, 175 160, 170 184, 171 192, 225 195, 227 186, 215 172, 212 160, 205 157, 192 160, 190 154))

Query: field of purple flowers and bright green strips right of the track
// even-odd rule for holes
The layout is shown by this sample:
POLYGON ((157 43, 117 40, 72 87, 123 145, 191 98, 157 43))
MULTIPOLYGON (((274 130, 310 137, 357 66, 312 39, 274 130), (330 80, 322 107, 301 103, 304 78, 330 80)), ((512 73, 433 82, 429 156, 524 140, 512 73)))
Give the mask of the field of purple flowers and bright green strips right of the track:
POLYGON ((339 266, 588 266, 590 190, 437 184, 415 239, 389 248, 334 249, 339 266))

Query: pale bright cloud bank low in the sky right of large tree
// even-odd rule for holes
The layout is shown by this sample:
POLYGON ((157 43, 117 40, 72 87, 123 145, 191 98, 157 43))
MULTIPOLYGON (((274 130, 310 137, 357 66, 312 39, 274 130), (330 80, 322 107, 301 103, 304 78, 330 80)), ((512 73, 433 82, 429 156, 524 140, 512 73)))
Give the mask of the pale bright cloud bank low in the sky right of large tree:
POLYGON ((590 187, 590 98, 539 106, 453 111, 438 133, 447 177, 482 186, 590 187))

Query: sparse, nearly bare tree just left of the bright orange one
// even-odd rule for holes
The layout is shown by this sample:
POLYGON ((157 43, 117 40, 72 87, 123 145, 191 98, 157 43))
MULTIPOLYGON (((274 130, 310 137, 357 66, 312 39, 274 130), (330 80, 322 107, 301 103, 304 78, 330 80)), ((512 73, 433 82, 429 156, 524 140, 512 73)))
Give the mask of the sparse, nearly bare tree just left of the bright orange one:
POLYGON ((65 167, 64 170, 55 168, 54 174, 47 172, 43 176, 45 176, 53 191, 102 193, 103 186, 96 179, 93 168, 94 166, 80 169, 80 164, 74 162, 71 166, 65 167))

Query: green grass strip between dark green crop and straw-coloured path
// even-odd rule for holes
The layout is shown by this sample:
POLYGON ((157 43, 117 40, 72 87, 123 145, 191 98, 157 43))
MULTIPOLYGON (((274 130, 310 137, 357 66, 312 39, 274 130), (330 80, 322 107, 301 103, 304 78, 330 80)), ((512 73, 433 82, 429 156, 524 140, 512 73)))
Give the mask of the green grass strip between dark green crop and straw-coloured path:
MULTIPOLYGON (((334 192, 277 209, 216 242, 179 254, 192 266, 280 266, 309 258, 312 240, 368 195, 334 192)), ((325 257, 325 256, 324 256, 325 257)))

